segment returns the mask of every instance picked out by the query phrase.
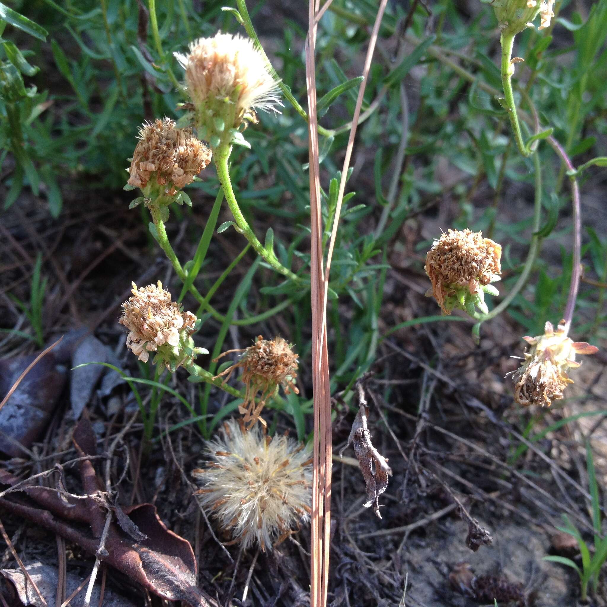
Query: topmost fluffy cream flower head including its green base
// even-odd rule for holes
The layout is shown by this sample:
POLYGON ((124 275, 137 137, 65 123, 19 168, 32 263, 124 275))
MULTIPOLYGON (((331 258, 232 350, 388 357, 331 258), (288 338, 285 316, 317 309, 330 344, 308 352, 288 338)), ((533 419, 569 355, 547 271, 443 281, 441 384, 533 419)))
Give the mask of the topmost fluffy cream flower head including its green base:
POLYGON ((221 139, 243 120, 254 120, 254 110, 282 106, 279 87, 250 38, 217 32, 192 42, 188 55, 175 57, 185 69, 198 122, 212 146, 214 137, 221 139))

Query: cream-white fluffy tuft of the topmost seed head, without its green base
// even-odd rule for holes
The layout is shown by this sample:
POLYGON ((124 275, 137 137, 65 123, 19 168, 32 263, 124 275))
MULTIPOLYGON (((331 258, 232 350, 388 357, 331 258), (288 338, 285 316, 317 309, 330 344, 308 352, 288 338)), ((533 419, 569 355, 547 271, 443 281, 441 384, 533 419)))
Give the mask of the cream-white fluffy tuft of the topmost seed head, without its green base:
POLYGON ((175 57, 185 69, 188 92, 197 107, 209 98, 229 98, 240 117, 252 109, 282 106, 279 87, 250 38, 217 32, 192 42, 188 55, 175 57))

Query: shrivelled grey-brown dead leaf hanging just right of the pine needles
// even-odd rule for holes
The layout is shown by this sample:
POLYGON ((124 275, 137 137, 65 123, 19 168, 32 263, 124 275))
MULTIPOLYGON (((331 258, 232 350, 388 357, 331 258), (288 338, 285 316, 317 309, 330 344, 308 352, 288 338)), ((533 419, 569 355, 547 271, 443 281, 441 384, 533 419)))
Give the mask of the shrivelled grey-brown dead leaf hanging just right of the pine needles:
POLYGON ((371 444, 371 433, 367 426, 369 408, 365 398, 364 388, 358 382, 358 413, 354 418, 350 436, 345 446, 339 450, 339 456, 350 446, 354 447, 354 455, 358 459, 362 476, 367 484, 367 501, 362 504, 365 508, 373 507, 376 517, 381 518, 379 513, 379 496, 388 487, 388 476, 392 476, 392 469, 388 466, 388 460, 384 458, 373 444, 371 444))

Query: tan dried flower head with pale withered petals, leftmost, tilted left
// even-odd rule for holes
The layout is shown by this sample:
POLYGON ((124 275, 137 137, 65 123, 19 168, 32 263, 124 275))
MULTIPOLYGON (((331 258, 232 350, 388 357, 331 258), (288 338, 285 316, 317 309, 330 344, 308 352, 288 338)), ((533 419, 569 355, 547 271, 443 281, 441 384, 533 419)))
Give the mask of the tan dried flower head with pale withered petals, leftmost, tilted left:
POLYGON ((163 362, 171 371, 192 364, 194 354, 202 353, 202 348, 194 348, 190 337, 196 322, 194 314, 181 311, 160 280, 142 289, 134 282, 132 285, 132 297, 122 304, 124 311, 118 320, 129 330, 127 347, 143 362, 148 361, 150 352, 157 353, 154 362, 163 362))

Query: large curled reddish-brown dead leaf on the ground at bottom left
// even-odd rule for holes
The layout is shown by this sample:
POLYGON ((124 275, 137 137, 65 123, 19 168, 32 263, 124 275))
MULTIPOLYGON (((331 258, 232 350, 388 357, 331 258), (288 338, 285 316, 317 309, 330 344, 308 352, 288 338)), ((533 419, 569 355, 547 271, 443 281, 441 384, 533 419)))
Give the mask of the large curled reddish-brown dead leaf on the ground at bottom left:
MULTIPOLYGON (((90 422, 81 420, 74 432, 78 456, 96 455, 95 443, 90 422)), ((181 600, 192 607, 215 604, 197 586, 192 546, 167 529, 155 506, 136 504, 118 514, 118 506, 104 491, 90 459, 80 462, 80 477, 87 496, 84 500, 69 494, 59 496, 55 490, 39 486, 22 491, 30 498, 27 501, 13 495, 10 499, 0 498, 0 508, 72 541, 163 599, 181 600), (118 524, 112 521, 104 550, 99 551, 108 510, 112 510, 118 524), (84 531, 81 523, 88 524, 90 532, 84 531)), ((0 476, 2 484, 18 481, 8 473, 0 476)))

